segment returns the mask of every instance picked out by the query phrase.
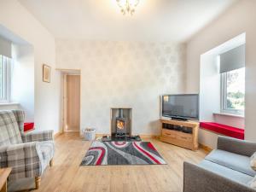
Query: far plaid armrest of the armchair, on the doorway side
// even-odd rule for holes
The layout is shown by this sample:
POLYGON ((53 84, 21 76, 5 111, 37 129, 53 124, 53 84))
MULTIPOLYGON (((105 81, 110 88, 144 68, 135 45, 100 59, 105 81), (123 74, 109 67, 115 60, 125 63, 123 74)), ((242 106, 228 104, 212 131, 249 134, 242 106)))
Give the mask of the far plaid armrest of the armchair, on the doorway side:
POLYGON ((53 130, 48 131, 33 131, 30 133, 21 134, 22 141, 27 142, 44 142, 53 140, 53 130))

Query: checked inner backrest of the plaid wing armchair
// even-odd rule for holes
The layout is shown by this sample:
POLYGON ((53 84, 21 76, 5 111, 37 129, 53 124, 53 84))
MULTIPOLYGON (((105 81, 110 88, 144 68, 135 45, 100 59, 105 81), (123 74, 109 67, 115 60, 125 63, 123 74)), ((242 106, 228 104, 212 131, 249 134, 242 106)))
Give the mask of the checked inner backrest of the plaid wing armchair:
POLYGON ((19 125, 12 111, 0 111, 0 146, 22 143, 19 125))

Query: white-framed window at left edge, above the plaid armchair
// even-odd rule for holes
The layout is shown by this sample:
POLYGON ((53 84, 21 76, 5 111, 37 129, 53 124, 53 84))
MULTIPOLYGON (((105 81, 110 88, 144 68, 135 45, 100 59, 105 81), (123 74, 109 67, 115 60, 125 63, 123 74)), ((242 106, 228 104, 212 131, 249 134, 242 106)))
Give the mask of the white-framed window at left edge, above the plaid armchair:
POLYGON ((0 102, 9 102, 10 60, 9 57, 0 55, 0 102))

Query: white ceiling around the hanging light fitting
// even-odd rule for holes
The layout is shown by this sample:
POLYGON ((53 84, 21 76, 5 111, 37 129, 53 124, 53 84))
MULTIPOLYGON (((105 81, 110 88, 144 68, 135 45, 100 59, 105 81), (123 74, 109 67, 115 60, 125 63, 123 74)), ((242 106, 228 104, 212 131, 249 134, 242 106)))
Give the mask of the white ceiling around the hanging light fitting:
POLYGON ((236 0, 140 0, 122 15, 115 0, 19 0, 55 38, 184 42, 236 0))

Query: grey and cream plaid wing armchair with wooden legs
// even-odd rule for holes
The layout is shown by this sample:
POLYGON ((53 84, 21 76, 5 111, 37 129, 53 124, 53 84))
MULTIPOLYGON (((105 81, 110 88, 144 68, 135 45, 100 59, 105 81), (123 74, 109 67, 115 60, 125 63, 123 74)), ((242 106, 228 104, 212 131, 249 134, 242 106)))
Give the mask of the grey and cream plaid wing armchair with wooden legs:
POLYGON ((53 131, 24 133, 24 112, 0 111, 0 167, 12 167, 9 180, 35 177, 36 189, 55 152, 53 131))

